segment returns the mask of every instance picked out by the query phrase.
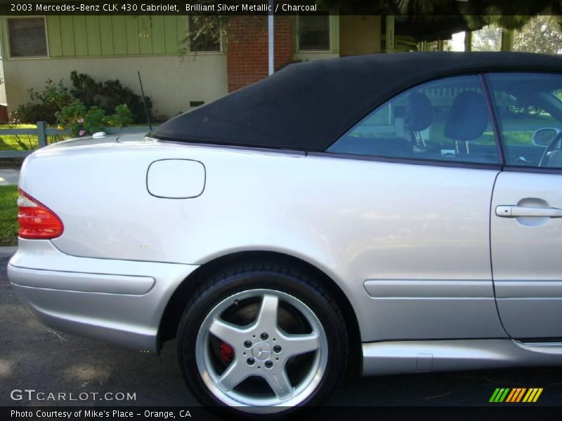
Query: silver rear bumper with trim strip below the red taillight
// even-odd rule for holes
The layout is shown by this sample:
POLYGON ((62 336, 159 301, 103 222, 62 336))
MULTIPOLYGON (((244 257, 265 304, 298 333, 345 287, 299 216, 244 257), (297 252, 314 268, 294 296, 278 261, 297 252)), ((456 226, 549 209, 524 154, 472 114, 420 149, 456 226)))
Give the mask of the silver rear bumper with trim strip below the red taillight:
POLYGON ((25 307, 52 328, 157 352, 171 295, 197 266, 77 258, 51 241, 19 240, 8 278, 25 307))

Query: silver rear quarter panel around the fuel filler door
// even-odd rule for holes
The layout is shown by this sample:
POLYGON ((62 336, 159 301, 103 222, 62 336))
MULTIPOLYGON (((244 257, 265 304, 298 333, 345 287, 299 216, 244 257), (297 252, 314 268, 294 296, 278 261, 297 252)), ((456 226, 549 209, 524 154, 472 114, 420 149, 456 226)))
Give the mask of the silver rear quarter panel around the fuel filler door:
POLYGON ((53 244, 70 255, 202 265, 240 251, 286 253, 339 285, 364 341, 478 338, 504 335, 489 255, 496 173, 129 142, 64 154, 44 149, 28 159, 21 187, 63 220, 65 232, 53 244), (159 159, 203 163, 204 192, 192 199, 149 194, 147 170, 159 159), (377 279, 465 280, 464 290, 476 282, 479 292, 374 300, 364 283, 377 279), (389 323, 397 316, 400 323, 389 323))

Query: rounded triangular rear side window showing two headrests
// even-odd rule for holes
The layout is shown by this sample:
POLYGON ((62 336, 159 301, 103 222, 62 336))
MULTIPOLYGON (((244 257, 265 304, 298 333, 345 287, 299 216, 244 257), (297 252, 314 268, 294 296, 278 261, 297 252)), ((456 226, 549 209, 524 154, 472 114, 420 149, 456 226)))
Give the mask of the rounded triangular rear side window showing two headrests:
POLYGON ((375 109, 327 152, 499 163, 478 76, 424 83, 375 109))

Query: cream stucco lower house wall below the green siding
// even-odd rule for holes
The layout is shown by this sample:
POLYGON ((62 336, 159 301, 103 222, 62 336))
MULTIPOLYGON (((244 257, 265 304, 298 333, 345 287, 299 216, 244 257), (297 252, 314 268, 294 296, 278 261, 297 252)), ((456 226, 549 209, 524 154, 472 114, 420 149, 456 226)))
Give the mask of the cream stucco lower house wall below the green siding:
POLYGON ((46 79, 58 81, 72 70, 87 73, 97 81, 119 79, 140 95, 137 71, 141 71, 145 95, 154 105, 153 114, 174 116, 191 109, 190 101, 210 102, 226 95, 226 56, 223 54, 177 56, 61 58, 4 60, 8 110, 27 102, 28 88, 41 90, 46 79))

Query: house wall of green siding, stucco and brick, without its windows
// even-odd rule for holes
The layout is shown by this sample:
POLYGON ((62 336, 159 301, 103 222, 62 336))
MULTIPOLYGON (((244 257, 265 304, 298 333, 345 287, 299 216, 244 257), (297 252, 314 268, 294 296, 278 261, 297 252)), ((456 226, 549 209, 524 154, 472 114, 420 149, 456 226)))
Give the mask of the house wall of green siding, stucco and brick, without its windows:
MULTIPOLYGON (((8 18, 0 17, 0 67, 4 71, 8 111, 29 100, 29 88, 44 88, 46 79, 65 79, 70 83, 68 77, 72 70, 87 73, 98 81, 119 79, 139 94, 137 70, 140 70, 145 94, 152 98, 154 114, 162 117, 188 111, 192 108, 190 102, 211 102, 267 76, 265 18, 254 19, 254 25, 241 20, 242 32, 230 36, 235 41, 231 48, 221 45, 221 51, 187 51, 182 57, 181 48, 188 48, 183 42, 189 22, 186 15, 37 18, 45 22, 46 57, 12 58, 8 18)), ((332 14, 327 22, 328 45, 322 50, 310 50, 299 45, 297 17, 277 18, 275 68, 295 60, 381 51, 380 17, 332 14)))

